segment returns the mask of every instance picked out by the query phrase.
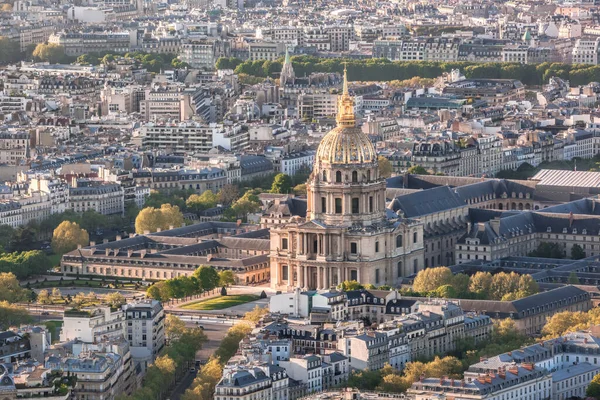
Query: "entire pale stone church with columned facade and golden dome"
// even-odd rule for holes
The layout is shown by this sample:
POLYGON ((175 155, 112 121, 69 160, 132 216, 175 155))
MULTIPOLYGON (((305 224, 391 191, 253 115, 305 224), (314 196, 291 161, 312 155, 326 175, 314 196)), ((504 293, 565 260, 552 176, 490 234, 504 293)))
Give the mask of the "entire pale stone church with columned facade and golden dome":
POLYGON ((346 71, 336 121, 306 183, 305 216, 298 199, 263 215, 273 288, 327 289, 344 280, 394 286, 423 269, 423 225, 386 208, 386 182, 373 144, 356 126, 346 71))

